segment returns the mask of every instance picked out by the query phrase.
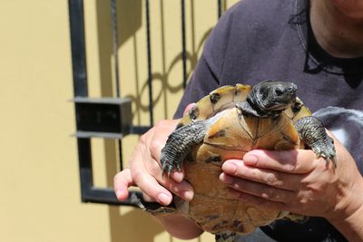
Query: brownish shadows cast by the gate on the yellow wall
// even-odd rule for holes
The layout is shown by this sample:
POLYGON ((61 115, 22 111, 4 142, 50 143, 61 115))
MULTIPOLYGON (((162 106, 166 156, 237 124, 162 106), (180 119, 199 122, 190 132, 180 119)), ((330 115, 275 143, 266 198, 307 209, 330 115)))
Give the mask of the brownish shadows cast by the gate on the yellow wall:
MULTIPOLYGON (((164 29, 164 1, 160 0, 160 13, 158 16, 151 16, 154 18, 160 18, 159 22, 161 23, 160 31, 162 33, 162 42, 165 39, 165 29, 164 29)), ((146 70, 147 66, 138 66, 138 45, 137 45, 137 36, 136 32, 142 28, 142 18, 145 17, 144 11, 144 1, 142 0, 117 0, 117 24, 118 24, 118 48, 120 48, 126 41, 132 39, 133 45, 133 59, 134 63, 134 80, 132 82, 136 82, 134 94, 129 95, 128 97, 132 99, 132 116, 136 119, 133 119, 134 124, 141 121, 140 113, 146 112, 149 110, 148 103, 142 103, 142 96, 148 95, 148 85, 147 79, 140 80, 138 70, 146 70), (124 24, 127 23, 127 24, 124 24)), ((103 97, 112 97, 113 96, 113 32, 112 32, 112 24, 111 24, 111 6, 109 1, 96 1, 96 9, 97 9, 97 31, 98 31, 98 43, 99 43, 99 58, 100 58, 100 77, 101 77, 101 94, 103 97)), ((198 53, 201 52, 202 44, 207 38, 208 34, 210 34, 211 30, 208 30, 205 34, 203 34, 201 40, 195 41, 195 21, 194 21, 194 1, 191 0, 191 8, 186 10, 191 13, 191 51, 187 53, 187 66, 189 70, 187 70, 187 75, 190 76, 191 71, 198 60, 198 53)), ((182 40, 181 40, 182 42, 182 40)), ((146 45, 146 39, 144 40, 146 45)), ((164 117, 168 117, 167 113, 167 103, 166 98, 162 98, 166 92, 175 93, 182 91, 182 76, 181 82, 178 85, 172 85, 169 81, 170 73, 172 73, 173 68, 182 68, 182 50, 178 53, 172 61, 167 63, 165 58, 165 46, 162 45, 162 53, 153 53, 153 56, 160 56, 162 58, 162 72, 154 72, 152 73, 152 82, 161 82, 162 89, 159 90, 158 93, 153 94, 153 105, 158 102, 162 103, 165 107, 164 109, 164 117)), ((121 72, 123 70, 123 66, 121 66, 121 72)), ((123 80, 121 80, 123 82, 123 80)), ((105 161, 106 161, 106 177, 107 177, 107 186, 113 186, 113 176, 117 172, 117 154, 115 150, 117 148, 117 144, 115 140, 104 140, 104 150, 105 150, 105 161)), ((113 242, 118 241, 145 241, 152 242, 153 238, 160 234, 163 230, 160 225, 155 223, 152 218, 138 209, 133 209, 129 213, 125 215, 120 214, 120 210, 117 207, 109 207, 109 218, 110 218, 110 233, 113 242), (127 221, 127 222, 125 222, 127 221), (142 223, 142 224, 141 224, 142 223), (142 233, 138 233, 142 229, 142 233)))

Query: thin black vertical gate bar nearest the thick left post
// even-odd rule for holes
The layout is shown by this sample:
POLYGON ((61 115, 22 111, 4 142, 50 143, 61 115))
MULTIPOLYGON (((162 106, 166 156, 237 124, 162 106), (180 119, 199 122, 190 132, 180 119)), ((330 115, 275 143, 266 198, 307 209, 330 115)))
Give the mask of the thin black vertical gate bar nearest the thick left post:
MULTIPOLYGON (((116 81, 116 97, 120 98, 120 69, 119 69, 119 54, 118 54, 118 38, 117 38, 117 5, 116 0, 111 0, 111 22, 113 24, 113 58, 114 58, 114 76, 116 81)), ((123 169, 123 143, 122 140, 117 140, 118 157, 120 169, 123 169)))

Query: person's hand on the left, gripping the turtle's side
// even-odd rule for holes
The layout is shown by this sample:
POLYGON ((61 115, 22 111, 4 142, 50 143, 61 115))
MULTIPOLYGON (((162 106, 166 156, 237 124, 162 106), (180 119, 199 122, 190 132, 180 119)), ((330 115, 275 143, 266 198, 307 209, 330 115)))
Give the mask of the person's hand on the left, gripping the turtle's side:
MULTIPOLYGON (((186 111, 191 109, 189 105, 186 111)), ((119 200, 129 196, 128 188, 137 186, 148 201, 162 205, 172 202, 172 193, 190 201, 193 196, 191 185, 183 180, 182 172, 173 172, 171 177, 162 174, 160 154, 170 133, 175 130, 178 120, 159 121, 140 138, 128 168, 116 174, 113 189, 119 200), (172 193, 171 193, 172 191, 172 193)))

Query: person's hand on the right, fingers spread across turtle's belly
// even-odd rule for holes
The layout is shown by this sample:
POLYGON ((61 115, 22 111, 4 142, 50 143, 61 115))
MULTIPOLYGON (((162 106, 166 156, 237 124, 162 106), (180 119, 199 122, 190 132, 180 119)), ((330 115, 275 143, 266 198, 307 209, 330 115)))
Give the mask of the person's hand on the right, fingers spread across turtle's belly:
POLYGON ((241 200, 261 208, 344 219, 363 206, 363 179, 348 150, 335 139, 338 167, 312 150, 251 150, 226 160, 221 181, 241 200))

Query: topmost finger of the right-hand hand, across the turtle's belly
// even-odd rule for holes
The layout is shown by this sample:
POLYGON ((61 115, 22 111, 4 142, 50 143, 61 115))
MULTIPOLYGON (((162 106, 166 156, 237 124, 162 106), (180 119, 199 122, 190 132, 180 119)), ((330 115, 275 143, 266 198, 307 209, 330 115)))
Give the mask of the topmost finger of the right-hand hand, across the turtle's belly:
POLYGON ((322 160, 312 150, 250 150, 243 156, 248 166, 295 174, 309 173, 322 160))

